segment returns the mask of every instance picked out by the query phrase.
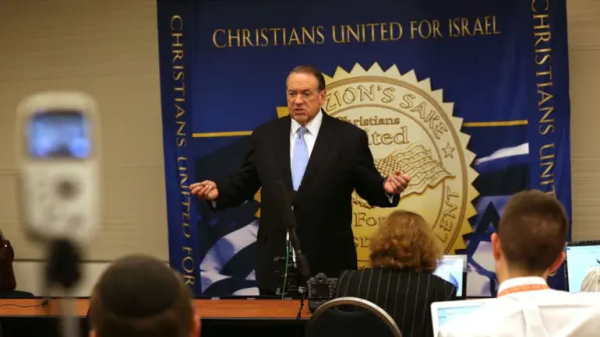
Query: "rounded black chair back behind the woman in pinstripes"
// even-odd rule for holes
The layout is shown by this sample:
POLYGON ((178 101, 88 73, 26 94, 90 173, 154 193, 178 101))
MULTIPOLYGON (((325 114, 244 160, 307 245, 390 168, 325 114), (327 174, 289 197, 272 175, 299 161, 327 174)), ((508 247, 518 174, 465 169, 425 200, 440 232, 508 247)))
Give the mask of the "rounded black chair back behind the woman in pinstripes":
POLYGON ((402 337, 394 319, 379 306, 355 297, 341 297, 312 314, 306 337, 402 337))

